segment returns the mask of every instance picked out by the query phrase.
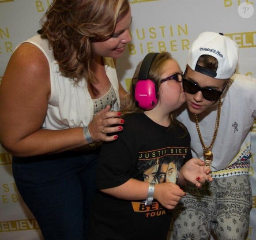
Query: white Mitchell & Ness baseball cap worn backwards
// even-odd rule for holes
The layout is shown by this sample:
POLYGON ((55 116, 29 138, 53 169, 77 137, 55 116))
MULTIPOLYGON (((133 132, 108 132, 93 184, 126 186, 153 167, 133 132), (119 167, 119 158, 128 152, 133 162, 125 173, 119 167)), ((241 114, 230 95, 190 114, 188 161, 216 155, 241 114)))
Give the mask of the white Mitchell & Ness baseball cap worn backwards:
POLYGON ((222 33, 203 32, 192 43, 187 64, 193 71, 198 71, 215 79, 229 79, 236 71, 238 53, 239 48, 236 42, 222 33), (211 55, 218 60, 216 71, 197 64, 202 55, 211 55))

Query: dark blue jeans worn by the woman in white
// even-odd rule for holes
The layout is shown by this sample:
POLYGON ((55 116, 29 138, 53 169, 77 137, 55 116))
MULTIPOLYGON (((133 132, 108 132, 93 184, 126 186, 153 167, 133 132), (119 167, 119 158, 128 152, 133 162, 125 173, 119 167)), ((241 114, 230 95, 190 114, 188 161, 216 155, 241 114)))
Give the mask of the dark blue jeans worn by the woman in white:
POLYGON ((95 191, 97 153, 13 157, 12 171, 45 240, 84 240, 95 191))

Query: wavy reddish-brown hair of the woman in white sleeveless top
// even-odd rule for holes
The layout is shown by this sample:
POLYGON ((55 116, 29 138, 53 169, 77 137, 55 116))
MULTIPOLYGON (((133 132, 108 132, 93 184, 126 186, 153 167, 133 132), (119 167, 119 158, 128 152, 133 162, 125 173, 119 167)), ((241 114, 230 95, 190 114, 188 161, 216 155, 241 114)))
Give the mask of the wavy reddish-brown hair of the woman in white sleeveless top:
POLYGON ((92 42, 111 38, 129 8, 128 0, 53 0, 38 34, 48 40, 62 75, 97 82, 90 69, 92 42))

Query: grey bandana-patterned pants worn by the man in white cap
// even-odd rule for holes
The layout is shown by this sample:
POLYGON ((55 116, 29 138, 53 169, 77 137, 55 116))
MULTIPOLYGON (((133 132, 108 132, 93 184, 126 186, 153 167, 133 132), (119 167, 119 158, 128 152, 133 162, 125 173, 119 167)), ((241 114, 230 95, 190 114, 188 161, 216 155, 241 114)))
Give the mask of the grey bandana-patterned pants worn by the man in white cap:
POLYGON ((189 185, 173 211, 173 240, 244 240, 248 233, 252 191, 248 175, 214 178, 202 188, 189 185))

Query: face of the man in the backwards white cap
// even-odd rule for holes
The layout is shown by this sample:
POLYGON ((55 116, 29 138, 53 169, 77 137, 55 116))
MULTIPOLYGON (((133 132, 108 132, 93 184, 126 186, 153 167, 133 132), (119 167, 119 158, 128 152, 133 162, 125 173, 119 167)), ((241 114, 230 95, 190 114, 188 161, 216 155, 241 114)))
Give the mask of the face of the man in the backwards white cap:
MULTIPOLYGON (((222 91, 223 87, 227 83, 226 79, 214 79, 200 72, 193 71, 190 67, 187 67, 187 72, 186 75, 184 75, 184 78, 196 83, 202 88, 209 88, 218 91, 222 91)), ((195 94, 189 94, 188 92, 185 92, 185 97, 188 105, 188 110, 196 114, 200 114, 201 112, 218 102, 217 100, 210 101, 205 99, 201 91, 198 91, 195 94)))

